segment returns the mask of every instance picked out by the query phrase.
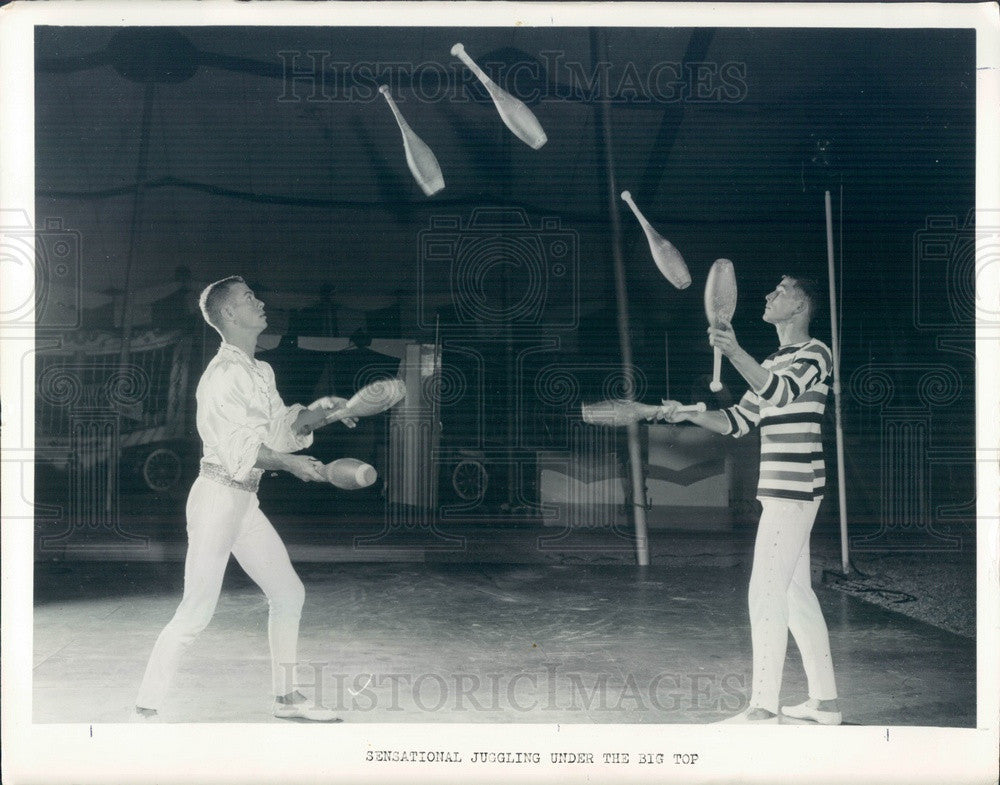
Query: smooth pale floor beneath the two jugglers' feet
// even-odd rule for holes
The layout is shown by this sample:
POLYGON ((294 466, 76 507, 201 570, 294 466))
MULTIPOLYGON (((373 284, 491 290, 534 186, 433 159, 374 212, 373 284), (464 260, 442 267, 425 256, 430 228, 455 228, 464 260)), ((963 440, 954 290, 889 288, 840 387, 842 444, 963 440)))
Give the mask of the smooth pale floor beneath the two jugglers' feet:
MULTIPOLYGON (((706 723, 745 706, 745 559, 296 566, 300 660, 313 663, 300 678, 318 677, 346 722, 706 723)), ((174 561, 38 563, 34 721, 122 721, 181 588, 174 561)), ((817 594, 846 722, 974 727, 974 640, 817 594)), ((231 564, 164 720, 280 722, 266 621, 231 564)), ((790 641, 782 702, 804 697, 790 641)))

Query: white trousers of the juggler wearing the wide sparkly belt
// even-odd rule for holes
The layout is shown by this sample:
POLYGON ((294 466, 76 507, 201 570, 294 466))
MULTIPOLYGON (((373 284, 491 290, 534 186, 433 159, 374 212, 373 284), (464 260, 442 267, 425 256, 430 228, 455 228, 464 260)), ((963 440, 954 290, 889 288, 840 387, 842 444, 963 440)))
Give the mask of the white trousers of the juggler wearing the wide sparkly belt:
POLYGON ((305 589, 257 495, 198 477, 188 495, 187 532, 184 597, 156 640, 136 705, 162 704, 181 654, 215 613, 230 553, 267 595, 272 686, 275 695, 288 694, 305 589))

